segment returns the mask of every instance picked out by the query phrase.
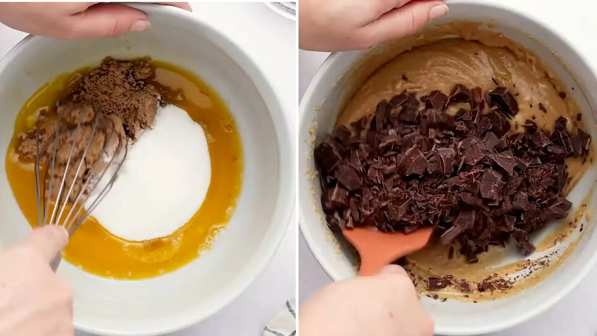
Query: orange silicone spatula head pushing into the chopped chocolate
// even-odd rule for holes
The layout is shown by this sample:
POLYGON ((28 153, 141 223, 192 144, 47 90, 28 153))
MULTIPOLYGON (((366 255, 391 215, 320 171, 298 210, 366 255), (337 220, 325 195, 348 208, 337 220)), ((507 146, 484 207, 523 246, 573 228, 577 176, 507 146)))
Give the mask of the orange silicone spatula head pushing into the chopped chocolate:
POLYGON ((377 274, 385 265, 424 248, 432 232, 433 228, 420 228, 409 234, 383 233, 369 228, 342 230, 361 255, 359 276, 377 274))

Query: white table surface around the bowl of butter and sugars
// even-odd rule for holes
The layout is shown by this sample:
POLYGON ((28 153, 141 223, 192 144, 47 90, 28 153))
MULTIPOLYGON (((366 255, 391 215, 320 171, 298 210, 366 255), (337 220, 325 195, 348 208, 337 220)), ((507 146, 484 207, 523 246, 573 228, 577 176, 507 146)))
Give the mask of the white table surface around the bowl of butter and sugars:
MULTIPOLYGON (((193 13, 232 37, 272 82, 290 120, 296 120, 295 22, 257 3, 197 3, 193 13)), ((0 24, 0 57, 25 33, 0 24)), ((192 41, 189 41, 192 43, 192 41)), ((293 216, 291 223, 296 223, 293 216)), ((257 336, 296 292, 297 228, 291 224, 280 248, 260 276, 238 299, 207 320, 169 336, 257 336)), ((78 332, 77 336, 88 336, 78 332)))

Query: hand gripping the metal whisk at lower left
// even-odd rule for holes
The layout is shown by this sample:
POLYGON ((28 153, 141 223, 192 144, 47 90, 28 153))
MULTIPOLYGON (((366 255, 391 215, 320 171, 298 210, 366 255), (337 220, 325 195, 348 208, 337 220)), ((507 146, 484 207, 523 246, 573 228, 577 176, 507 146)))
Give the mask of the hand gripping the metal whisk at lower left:
POLYGON ((69 236, 60 225, 36 230, 0 253, 0 336, 73 336, 72 291, 50 268, 69 236))

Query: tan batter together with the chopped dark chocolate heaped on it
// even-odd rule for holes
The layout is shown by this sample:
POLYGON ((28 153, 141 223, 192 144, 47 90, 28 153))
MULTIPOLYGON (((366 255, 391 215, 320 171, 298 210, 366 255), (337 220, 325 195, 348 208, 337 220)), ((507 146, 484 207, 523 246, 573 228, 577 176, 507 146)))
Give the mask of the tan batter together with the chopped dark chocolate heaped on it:
POLYGON ((362 77, 315 149, 328 224, 433 226, 436 240, 402 260, 420 291, 515 292, 505 270, 530 261, 489 266, 509 239, 532 253, 529 234, 568 215, 565 196, 593 160, 580 109, 531 51, 478 24, 445 25, 396 50, 373 56, 388 62, 362 77))

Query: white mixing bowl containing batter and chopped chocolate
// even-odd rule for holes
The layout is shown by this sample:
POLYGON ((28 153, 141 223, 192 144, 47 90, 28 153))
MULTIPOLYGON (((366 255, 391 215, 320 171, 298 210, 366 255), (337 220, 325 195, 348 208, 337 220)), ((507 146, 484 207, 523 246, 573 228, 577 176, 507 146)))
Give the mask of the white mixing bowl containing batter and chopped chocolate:
MULTIPOLYGON (((501 7, 497 2, 472 0, 450 1, 450 13, 438 23, 472 21, 493 23, 493 30, 535 51, 543 61, 562 79, 568 91, 577 100, 583 120, 593 139, 597 136, 595 111, 597 110, 597 81, 586 60, 570 47, 565 38, 541 23, 512 9, 501 7), (565 65, 568 66, 566 68, 565 65), (571 88, 574 87, 574 90, 571 88)), ((315 172, 313 142, 321 142, 325 133, 331 132, 338 111, 356 88, 367 79, 358 61, 374 51, 349 51, 334 53, 313 78, 300 105, 300 128, 298 130, 298 200, 301 231, 315 258, 334 280, 355 276, 355 268, 349 256, 338 253, 335 238, 325 225, 322 216, 321 187, 313 179, 315 172)), ((373 70, 375 68, 371 68, 373 70)), ((574 209, 589 194, 589 209, 596 204, 595 185, 597 167, 584 175, 574 191, 568 196, 574 209)), ((573 211, 574 211, 573 209, 573 211)), ((424 306, 435 318, 435 332, 442 335, 477 335, 505 329, 521 323, 552 306, 583 279, 597 261, 597 234, 595 216, 582 219, 584 230, 578 237, 578 245, 564 263, 547 279, 520 294, 480 303, 464 303, 448 300, 441 303, 423 297, 424 306)), ((578 225, 580 227, 580 223, 578 225)), ((578 230, 578 229, 577 229, 578 230)), ((570 241, 562 242, 556 249, 564 249, 570 241)), ((307 275, 302 275, 307 276, 307 275)))

